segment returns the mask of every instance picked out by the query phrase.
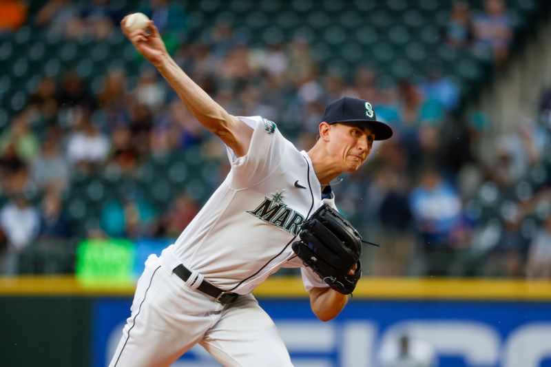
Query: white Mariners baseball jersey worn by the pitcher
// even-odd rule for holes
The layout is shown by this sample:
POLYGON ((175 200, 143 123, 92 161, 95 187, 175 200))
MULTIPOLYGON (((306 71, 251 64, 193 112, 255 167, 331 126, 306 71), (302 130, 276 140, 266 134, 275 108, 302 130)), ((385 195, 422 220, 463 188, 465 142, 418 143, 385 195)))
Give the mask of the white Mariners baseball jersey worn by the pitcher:
MULTIPOLYGON (((169 271, 184 264, 226 291, 250 293, 281 267, 302 267, 306 289, 326 287, 295 257, 302 221, 322 205, 305 151, 260 116, 240 117, 254 131, 245 156, 228 148, 231 171, 178 240, 160 256, 169 271)), ((328 199, 326 199, 328 200, 328 199)), ((329 204, 334 206, 333 198, 329 204)))

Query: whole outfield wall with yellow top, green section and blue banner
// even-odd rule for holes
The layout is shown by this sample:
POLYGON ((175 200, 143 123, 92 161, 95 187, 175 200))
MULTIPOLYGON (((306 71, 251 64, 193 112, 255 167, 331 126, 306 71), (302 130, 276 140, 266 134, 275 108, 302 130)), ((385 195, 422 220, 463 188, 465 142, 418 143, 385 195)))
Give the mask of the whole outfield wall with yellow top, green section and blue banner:
MULTIPOLYGON (((72 277, 0 279, 0 365, 105 366, 132 293, 72 277)), ((328 323, 311 313, 300 279, 274 278, 255 294, 298 367, 377 366, 404 331, 439 366, 551 366, 550 282, 366 278, 328 323)), ((218 364, 194 348, 176 366, 218 364)))

